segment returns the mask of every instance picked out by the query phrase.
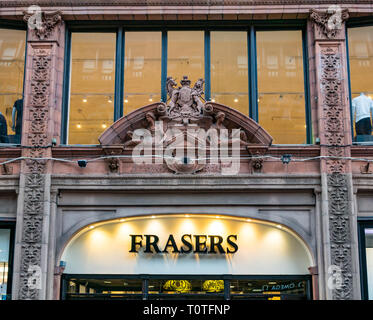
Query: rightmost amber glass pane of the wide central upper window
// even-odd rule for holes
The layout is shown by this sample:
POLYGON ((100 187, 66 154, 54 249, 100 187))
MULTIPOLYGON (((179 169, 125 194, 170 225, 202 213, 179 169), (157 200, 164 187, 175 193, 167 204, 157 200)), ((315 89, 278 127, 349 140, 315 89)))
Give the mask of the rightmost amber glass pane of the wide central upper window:
POLYGON ((301 31, 257 32, 258 113, 273 143, 305 144, 301 31))

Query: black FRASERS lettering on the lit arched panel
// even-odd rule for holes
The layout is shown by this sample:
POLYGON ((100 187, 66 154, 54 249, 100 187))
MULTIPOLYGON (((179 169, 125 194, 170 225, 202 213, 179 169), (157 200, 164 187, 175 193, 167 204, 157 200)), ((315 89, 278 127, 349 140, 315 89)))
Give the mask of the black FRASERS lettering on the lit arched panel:
POLYGON ((180 237, 181 245, 177 245, 175 237, 170 234, 164 247, 159 244, 159 237, 153 234, 131 234, 131 249, 129 252, 138 253, 196 253, 196 254, 225 254, 236 253, 237 235, 228 235, 226 238, 217 235, 183 234, 180 237))

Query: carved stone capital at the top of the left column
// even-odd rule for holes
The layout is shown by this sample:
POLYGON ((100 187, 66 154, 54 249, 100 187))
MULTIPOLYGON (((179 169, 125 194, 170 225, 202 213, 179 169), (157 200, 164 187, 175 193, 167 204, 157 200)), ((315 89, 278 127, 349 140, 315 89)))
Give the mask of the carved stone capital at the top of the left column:
MULTIPOLYGON (((34 17, 33 14, 24 12, 23 20, 29 22, 29 19, 34 17)), ((39 40, 47 40, 53 33, 54 28, 62 22, 61 12, 40 12, 41 23, 39 24, 37 20, 32 21, 33 28, 32 32, 38 37, 39 40)))

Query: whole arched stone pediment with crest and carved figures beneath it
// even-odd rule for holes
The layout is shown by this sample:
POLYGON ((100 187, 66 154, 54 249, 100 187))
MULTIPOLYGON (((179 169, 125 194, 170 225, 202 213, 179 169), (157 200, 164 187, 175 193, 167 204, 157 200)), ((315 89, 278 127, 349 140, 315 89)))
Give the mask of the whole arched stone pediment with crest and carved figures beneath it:
MULTIPOLYGON (((157 102, 141 107, 102 133, 99 142, 105 153, 120 155, 141 144, 143 150, 169 150, 172 147, 174 151, 168 154, 168 160, 164 158, 168 168, 178 173, 191 173, 201 170, 204 165, 198 160, 179 156, 188 154, 188 149, 205 154, 208 148, 209 155, 214 150, 221 152, 222 148, 239 150, 236 154, 263 155, 272 144, 272 137, 253 119, 228 106, 204 102, 203 79, 191 88, 190 80, 184 76, 180 84, 177 87, 174 79, 169 77, 167 104, 157 102)), ((118 161, 111 165, 118 167, 118 161)))

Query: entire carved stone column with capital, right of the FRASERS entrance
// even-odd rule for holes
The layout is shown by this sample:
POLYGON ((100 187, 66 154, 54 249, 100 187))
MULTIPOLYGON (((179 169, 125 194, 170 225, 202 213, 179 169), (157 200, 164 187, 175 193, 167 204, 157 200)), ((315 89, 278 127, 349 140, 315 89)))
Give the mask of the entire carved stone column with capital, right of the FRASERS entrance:
POLYGON ((320 285, 326 299, 350 300, 360 298, 360 285, 351 163, 343 159, 351 156, 352 143, 345 38, 348 12, 331 11, 311 10, 309 22, 318 134, 325 157, 320 161, 324 263, 319 273, 323 273, 320 285), (334 284, 333 278, 337 280, 334 284))

